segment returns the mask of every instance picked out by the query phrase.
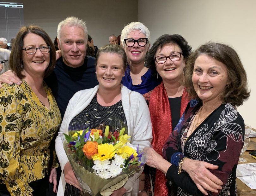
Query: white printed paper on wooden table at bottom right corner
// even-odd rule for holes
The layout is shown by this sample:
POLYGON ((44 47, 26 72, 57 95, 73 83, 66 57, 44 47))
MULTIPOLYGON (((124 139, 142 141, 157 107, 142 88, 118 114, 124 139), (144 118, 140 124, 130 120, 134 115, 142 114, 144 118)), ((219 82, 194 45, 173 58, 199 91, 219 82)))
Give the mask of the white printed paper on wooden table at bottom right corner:
POLYGON ((248 176, 240 176, 240 179, 243 183, 245 183, 251 189, 256 189, 256 163, 247 163, 247 164, 240 164, 237 166, 236 174, 240 175, 239 173, 251 173, 248 176), (242 168, 242 170, 241 170, 242 168))

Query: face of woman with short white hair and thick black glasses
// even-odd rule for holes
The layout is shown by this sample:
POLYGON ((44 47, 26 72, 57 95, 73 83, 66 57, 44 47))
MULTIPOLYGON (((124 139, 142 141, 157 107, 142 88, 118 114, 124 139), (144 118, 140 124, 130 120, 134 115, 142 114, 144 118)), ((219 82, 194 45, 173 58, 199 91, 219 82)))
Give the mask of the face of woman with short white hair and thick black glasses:
MULTIPOLYGON (((139 39, 139 38, 145 38, 146 36, 141 33, 140 31, 132 31, 129 33, 129 35, 126 38, 132 38, 132 39, 139 39)), ((139 44, 136 42, 132 47, 126 46, 125 47, 125 53, 127 55, 128 63, 131 64, 139 64, 144 63, 145 56, 147 51, 149 50, 150 44, 147 44, 145 46, 139 46, 139 44)))

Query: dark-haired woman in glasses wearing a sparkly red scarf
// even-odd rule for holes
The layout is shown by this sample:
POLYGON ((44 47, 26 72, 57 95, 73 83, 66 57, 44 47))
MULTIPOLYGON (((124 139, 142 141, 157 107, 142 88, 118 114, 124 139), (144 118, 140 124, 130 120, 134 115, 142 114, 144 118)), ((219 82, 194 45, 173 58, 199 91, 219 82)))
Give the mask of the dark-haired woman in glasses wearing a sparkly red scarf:
MULTIPOLYGON (((162 83, 152 91, 144 94, 149 105, 152 122, 152 147, 162 155, 162 148, 166 138, 174 130, 189 102, 187 93, 182 84, 183 69, 191 46, 180 35, 162 35, 159 37, 149 54, 146 64, 162 83)), ((168 195, 165 185, 166 178, 160 170, 150 169, 155 182, 155 195, 168 195)), ((146 178, 147 192, 149 193, 149 177, 146 178)))

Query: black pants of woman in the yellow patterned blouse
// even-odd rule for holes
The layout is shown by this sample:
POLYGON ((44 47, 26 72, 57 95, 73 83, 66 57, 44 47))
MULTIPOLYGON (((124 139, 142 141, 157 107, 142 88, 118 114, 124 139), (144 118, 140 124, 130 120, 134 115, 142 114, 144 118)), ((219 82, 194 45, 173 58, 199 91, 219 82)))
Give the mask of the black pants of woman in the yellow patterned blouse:
MULTIPOLYGON (((28 183, 33 188, 33 196, 46 196, 46 189, 49 186, 49 176, 46 176, 40 180, 36 180, 28 183)), ((0 196, 10 196, 5 184, 0 184, 0 196)))

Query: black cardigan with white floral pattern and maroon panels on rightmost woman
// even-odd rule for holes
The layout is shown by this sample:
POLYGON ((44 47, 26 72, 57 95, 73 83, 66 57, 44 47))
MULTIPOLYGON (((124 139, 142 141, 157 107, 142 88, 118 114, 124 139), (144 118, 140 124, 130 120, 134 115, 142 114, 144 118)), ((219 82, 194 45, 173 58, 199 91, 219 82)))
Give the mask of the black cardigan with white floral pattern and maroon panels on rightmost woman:
POLYGON ((237 195, 235 174, 243 147, 244 120, 231 104, 222 104, 184 143, 187 130, 201 106, 196 100, 190 101, 179 124, 164 145, 163 155, 172 163, 166 177, 178 186, 178 196, 203 195, 186 172, 178 175, 179 161, 186 156, 219 166, 210 172, 223 182, 222 189, 218 193, 207 191, 209 195, 237 195))

